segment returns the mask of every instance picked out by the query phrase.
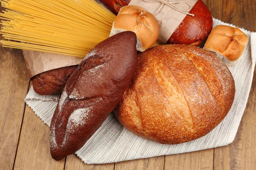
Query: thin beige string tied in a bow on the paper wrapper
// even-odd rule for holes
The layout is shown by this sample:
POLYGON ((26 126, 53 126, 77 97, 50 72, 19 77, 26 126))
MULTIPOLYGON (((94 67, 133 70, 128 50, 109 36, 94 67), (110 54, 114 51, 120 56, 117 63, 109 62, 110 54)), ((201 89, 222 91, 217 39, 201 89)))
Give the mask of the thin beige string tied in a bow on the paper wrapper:
POLYGON ((190 16, 195 16, 194 14, 189 14, 189 11, 193 8, 192 5, 186 1, 180 1, 180 2, 169 2, 168 0, 143 0, 144 2, 147 2, 147 3, 153 3, 153 2, 159 2, 159 3, 162 3, 162 5, 160 6, 160 8, 154 13, 154 16, 163 8, 163 6, 167 5, 171 8, 174 8, 176 9, 177 11, 183 13, 183 14, 187 14, 187 15, 190 15, 190 16), (178 8, 177 6, 173 5, 173 4, 176 4, 176 3, 186 3, 188 6, 189 6, 189 9, 187 10, 183 10, 183 9, 180 9, 178 8))

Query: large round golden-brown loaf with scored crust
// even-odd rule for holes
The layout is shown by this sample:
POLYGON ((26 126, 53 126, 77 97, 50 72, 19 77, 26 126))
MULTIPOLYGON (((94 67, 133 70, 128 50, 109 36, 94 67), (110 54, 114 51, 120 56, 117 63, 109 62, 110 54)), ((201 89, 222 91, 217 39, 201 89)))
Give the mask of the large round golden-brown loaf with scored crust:
POLYGON ((206 135, 227 115, 235 83, 214 54, 191 45, 160 45, 138 58, 131 84, 114 110, 131 132, 179 144, 206 135))

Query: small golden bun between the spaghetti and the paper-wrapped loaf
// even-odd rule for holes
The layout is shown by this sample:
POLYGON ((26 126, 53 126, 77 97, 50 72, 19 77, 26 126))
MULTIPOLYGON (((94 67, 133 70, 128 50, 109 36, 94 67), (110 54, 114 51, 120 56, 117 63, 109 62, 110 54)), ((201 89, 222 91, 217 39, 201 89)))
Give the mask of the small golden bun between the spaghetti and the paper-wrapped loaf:
POLYGON ((150 48, 158 38, 157 19, 139 6, 124 6, 113 23, 110 36, 122 31, 133 31, 137 35, 137 51, 150 48))

